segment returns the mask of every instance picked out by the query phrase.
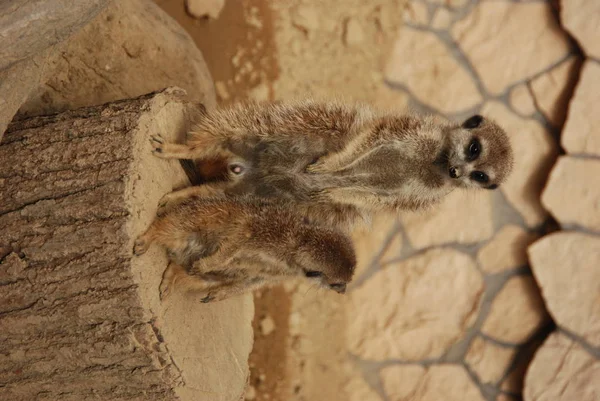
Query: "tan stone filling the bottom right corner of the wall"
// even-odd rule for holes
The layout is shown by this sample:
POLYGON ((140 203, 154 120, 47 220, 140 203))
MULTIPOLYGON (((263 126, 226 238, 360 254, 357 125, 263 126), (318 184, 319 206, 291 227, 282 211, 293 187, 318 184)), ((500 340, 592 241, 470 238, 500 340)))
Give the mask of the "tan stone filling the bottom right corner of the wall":
POLYGON ((525 401, 597 401, 600 361, 561 333, 538 350, 525 377, 525 401))

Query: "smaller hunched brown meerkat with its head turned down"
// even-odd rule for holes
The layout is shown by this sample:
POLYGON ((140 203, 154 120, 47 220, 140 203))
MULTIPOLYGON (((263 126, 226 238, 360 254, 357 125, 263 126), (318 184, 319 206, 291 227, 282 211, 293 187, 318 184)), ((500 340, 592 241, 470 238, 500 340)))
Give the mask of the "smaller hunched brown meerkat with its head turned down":
POLYGON ((348 236, 307 224, 278 203, 252 197, 195 198, 173 205, 135 241, 134 254, 151 243, 172 260, 161 284, 163 297, 177 286, 218 301, 304 276, 338 293, 352 279, 356 257, 348 236))

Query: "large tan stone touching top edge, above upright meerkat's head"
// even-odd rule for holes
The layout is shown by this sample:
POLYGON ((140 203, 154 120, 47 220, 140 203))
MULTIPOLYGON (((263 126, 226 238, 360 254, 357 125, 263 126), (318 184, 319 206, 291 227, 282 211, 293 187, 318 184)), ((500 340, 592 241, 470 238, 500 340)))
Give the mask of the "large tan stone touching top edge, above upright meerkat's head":
POLYGON ((492 94, 545 70, 570 51, 567 35, 545 2, 479 2, 454 25, 452 37, 492 94))

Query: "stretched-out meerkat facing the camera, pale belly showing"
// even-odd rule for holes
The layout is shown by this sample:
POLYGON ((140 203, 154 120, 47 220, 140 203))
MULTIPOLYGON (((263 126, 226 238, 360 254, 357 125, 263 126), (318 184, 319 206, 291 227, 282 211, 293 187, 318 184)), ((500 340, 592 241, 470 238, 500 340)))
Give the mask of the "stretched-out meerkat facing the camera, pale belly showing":
POLYGON ((495 189, 513 164, 506 132, 483 116, 458 124, 337 102, 238 104, 205 113, 186 144, 151 142, 158 157, 227 166, 226 181, 163 203, 252 193, 341 225, 365 212, 422 209, 456 188, 495 189))

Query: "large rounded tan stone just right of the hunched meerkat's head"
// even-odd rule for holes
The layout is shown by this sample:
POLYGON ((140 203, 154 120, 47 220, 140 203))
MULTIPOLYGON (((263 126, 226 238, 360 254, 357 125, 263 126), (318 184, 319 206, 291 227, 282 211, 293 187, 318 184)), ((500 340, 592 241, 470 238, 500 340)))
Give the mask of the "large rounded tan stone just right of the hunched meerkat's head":
POLYGON ((454 250, 390 264, 349 294, 350 352, 376 360, 440 357, 472 323, 482 292, 475 264, 454 250))

